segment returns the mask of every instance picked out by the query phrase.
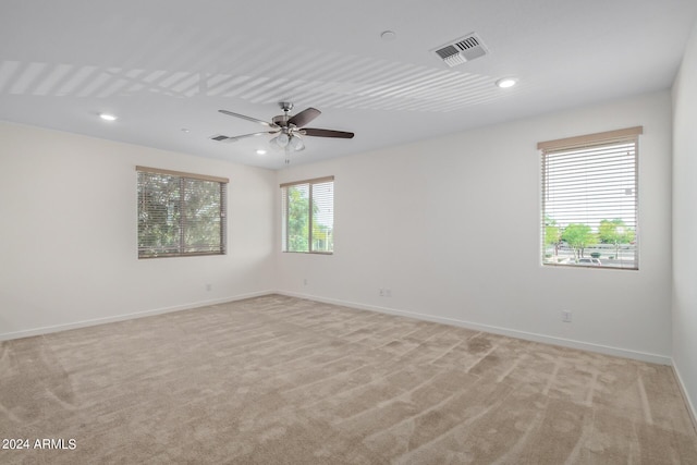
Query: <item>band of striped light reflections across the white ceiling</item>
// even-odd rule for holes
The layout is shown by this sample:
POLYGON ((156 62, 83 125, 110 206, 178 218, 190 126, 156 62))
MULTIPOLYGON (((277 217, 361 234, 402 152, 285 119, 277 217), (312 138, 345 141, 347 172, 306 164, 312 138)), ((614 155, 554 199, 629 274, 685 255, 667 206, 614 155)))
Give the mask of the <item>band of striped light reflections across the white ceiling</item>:
MULTIPOLYGON (((271 71, 271 70, 269 70, 271 71)), ((448 112, 502 97, 490 76, 378 59, 325 58, 313 78, 268 74, 0 62, 0 94, 108 99, 142 93, 175 98, 239 98, 274 103, 289 98, 323 108, 448 112)))

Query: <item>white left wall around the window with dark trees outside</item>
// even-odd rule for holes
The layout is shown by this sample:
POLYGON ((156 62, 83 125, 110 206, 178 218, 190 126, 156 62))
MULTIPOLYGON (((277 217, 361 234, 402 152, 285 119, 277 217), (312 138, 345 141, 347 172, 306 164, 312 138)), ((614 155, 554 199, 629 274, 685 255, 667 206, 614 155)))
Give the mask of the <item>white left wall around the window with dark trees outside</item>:
POLYGON ((272 171, 2 122, 0 140, 0 339, 274 289, 272 171), (228 255, 138 260, 136 164, 229 178, 228 255))

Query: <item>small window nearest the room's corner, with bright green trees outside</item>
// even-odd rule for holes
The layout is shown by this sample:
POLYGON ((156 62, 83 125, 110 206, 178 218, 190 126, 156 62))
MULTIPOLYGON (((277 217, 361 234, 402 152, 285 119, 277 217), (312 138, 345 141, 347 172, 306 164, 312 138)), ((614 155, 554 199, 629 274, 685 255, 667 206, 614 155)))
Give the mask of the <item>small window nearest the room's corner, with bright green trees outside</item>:
POLYGON ((334 250, 334 176, 281 184, 283 252, 334 250))

